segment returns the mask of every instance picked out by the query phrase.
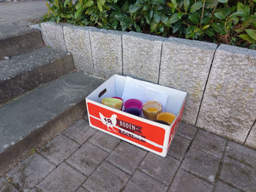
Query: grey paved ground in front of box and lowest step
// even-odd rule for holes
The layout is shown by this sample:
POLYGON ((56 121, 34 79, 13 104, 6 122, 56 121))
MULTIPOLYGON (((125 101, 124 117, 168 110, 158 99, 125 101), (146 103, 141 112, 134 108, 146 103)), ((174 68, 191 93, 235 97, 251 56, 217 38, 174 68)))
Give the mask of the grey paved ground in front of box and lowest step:
POLYGON ((78 120, 4 177, 0 191, 256 191, 256 151, 181 123, 162 158, 78 120))

